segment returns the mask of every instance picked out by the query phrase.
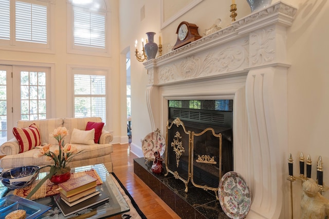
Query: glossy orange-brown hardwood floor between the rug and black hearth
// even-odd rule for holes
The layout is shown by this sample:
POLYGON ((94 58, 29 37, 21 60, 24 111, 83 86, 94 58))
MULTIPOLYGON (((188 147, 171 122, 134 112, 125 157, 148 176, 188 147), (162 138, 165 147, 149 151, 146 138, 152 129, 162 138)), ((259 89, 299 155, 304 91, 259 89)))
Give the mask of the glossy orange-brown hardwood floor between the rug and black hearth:
POLYGON ((180 218, 134 174, 134 158, 137 156, 130 152, 129 144, 113 145, 113 172, 132 195, 140 210, 149 219, 180 218))

